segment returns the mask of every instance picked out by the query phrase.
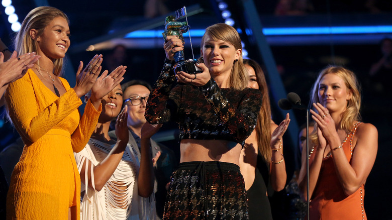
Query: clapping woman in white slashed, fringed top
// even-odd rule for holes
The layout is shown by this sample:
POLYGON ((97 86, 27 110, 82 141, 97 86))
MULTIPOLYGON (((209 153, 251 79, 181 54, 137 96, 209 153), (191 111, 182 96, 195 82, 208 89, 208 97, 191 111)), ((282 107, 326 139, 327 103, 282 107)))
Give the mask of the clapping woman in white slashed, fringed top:
MULTIPOLYGON (((85 100, 88 98, 89 94, 85 100)), ((75 153, 82 182, 82 220, 156 219, 149 139, 159 127, 146 124, 142 128, 138 158, 134 147, 128 144, 128 106, 120 113, 122 103, 123 91, 117 85, 103 97, 103 110, 87 145, 75 153), (117 140, 114 140, 109 136, 109 127, 116 118, 117 140)))

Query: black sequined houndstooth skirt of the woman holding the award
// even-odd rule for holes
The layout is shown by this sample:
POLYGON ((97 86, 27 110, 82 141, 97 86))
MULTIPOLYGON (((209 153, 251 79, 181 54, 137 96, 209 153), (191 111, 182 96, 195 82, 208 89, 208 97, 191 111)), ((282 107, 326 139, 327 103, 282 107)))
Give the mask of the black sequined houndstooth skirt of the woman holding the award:
POLYGON ((248 219, 239 166, 216 161, 180 163, 170 181, 163 219, 248 219))

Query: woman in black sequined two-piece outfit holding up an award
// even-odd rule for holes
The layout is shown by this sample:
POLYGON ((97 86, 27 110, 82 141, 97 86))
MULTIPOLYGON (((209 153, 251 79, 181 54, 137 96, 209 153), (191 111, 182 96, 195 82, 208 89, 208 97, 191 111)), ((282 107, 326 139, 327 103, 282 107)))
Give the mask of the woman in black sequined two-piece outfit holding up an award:
POLYGON ((152 124, 174 121, 180 129, 180 165, 163 218, 248 219, 239 157, 256 125, 262 95, 247 88, 241 39, 229 25, 208 27, 196 64, 202 72, 196 74, 174 72, 173 55, 183 50, 179 37, 166 36, 164 49, 164 66, 145 114, 152 124))

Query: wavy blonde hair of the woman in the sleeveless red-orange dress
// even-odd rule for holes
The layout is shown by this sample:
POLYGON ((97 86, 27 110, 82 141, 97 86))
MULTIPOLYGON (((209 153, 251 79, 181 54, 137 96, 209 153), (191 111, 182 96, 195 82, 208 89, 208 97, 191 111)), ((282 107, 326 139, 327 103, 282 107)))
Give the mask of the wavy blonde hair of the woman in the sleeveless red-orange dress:
MULTIPOLYGON (((311 103, 320 102, 319 84, 321 79, 328 73, 333 73, 343 79, 347 90, 352 94, 351 98, 347 100, 347 106, 345 111, 342 113, 342 120, 340 122, 340 129, 343 129, 344 131, 346 131, 346 133, 349 133, 352 129, 354 121, 361 120, 361 115, 359 112, 361 106, 361 87, 359 85, 357 77, 352 71, 342 66, 328 66, 319 73, 319 76, 317 77, 317 80, 312 87, 311 103)), ((310 138, 313 143, 319 144, 319 140, 317 137, 317 124, 310 138)))

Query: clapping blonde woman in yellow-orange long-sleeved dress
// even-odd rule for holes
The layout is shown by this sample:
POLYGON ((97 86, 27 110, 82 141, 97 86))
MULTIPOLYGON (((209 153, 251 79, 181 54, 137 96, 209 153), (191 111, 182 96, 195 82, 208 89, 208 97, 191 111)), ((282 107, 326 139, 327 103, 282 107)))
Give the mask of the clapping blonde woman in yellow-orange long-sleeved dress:
POLYGON ((8 219, 80 217, 80 176, 73 152, 86 145, 102 111, 102 97, 121 82, 124 72, 107 77, 104 71, 98 78, 102 55, 95 55, 83 71, 80 62, 71 88, 60 77, 69 44, 68 18, 52 7, 33 9, 16 37, 19 54, 41 57, 5 94, 9 117, 25 143, 11 177, 8 219), (80 117, 80 97, 89 90, 80 117))

